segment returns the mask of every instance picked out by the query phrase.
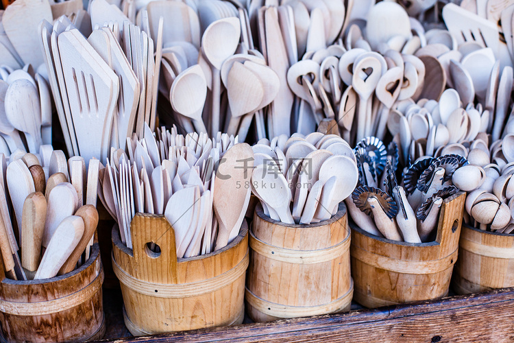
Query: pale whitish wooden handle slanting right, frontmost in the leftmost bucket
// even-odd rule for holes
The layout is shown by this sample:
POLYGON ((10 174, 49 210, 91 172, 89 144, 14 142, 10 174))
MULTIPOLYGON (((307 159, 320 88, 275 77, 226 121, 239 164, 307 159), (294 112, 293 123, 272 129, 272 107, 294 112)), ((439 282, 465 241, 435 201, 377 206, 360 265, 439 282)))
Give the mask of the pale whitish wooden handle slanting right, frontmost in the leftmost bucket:
POLYGON ((55 230, 45 255, 41 259, 34 280, 56 276, 62 265, 70 257, 84 234, 84 220, 78 215, 65 217, 55 230))

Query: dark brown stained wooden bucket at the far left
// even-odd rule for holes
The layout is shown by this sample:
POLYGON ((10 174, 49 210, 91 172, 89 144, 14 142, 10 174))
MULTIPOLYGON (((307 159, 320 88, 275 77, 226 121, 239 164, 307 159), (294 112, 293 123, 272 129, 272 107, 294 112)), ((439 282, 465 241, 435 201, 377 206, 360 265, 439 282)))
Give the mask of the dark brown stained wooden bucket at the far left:
POLYGON ((88 261, 68 274, 14 281, 1 265, 0 279, 2 342, 84 342, 106 332, 97 243, 88 261))

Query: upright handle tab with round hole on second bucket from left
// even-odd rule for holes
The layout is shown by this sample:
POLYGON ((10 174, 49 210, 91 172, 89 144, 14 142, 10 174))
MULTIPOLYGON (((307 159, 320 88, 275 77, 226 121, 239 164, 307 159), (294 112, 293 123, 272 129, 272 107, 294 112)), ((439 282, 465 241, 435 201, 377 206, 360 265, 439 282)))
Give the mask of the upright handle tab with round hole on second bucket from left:
POLYGON ((175 230, 164 215, 136 213, 130 230, 134 276, 154 283, 178 283, 175 230))

